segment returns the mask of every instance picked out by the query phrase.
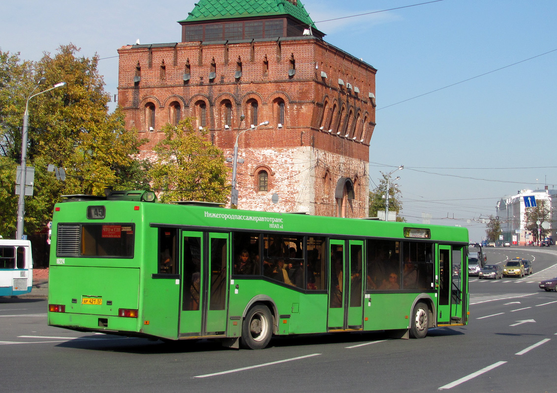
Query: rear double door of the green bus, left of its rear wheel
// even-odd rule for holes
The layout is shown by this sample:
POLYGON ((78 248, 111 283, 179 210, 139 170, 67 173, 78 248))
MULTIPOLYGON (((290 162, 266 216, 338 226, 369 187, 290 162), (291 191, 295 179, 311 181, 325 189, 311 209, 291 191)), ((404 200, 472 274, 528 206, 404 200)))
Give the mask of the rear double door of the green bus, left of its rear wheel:
POLYGON ((227 260, 227 233, 182 233, 180 337, 224 334, 227 260))

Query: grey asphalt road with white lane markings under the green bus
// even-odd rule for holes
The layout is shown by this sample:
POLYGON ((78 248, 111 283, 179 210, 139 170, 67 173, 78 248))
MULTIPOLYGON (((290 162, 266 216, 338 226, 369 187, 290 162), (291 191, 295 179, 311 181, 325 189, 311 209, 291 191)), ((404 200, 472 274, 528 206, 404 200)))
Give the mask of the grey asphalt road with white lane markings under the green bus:
POLYGON ((553 392, 557 373, 555 251, 496 248, 488 263, 522 256, 522 279, 470 278, 470 324, 423 340, 382 333, 273 339, 262 351, 207 340, 160 341, 82 334, 46 325, 46 300, 0 298, 2 391, 57 392, 553 392))

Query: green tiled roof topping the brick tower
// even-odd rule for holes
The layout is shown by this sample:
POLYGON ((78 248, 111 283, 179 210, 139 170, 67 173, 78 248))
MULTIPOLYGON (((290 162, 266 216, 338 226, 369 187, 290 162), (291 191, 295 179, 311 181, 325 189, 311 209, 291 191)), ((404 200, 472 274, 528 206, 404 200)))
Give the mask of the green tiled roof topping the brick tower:
POLYGON ((290 15, 311 27, 314 22, 299 0, 199 0, 189 16, 180 22, 215 19, 290 15))

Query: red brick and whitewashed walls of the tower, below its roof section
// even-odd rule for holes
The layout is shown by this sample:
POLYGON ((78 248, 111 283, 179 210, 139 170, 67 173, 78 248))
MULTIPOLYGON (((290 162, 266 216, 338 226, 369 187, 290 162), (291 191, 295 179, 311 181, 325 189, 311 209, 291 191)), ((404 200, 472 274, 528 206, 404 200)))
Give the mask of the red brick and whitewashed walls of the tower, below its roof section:
POLYGON ((196 126, 202 125, 204 105, 211 140, 231 156, 236 132, 250 127, 251 102, 257 102, 257 122, 270 124, 240 137, 240 156, 246 156, 245 165, 238 165, 240 207, 336 215, 334 190, 339 178, 347 177, 358 187, 345 214, 367 215, 367 164, 375 126, 369 93, 375 93, 376 72, 369 64, 311 37, 124 46, 119 54, 119 105, 126 127, 149 139, 142 157, 153 157, 153 146, 164 137, 159 130, 173 121, 176 103, 182 118, 198 118, 196 126), (294 74, 289 75, 290 69, 294 74), (232 104, 228 130, 227 102, 232 104), (147 105, 155 108, 153 132, 148 131, 147 105), (246 119, 240 124, 242 113, 246 119), (262 166, 273 172, 266 193, 255 190, 255 171, 262 166), (275 192, 276 205, 270 201, 275 192))

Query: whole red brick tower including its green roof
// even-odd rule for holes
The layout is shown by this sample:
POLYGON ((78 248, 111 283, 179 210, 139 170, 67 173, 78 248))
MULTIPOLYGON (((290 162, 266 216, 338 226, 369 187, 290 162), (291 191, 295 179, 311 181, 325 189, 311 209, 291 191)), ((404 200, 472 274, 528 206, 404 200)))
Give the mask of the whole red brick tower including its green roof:
POLYGON ((269 121, 238 141, 238 207, 367 217, 377 70, 323 41, 297 0, 199 0, 179 23, 180 42, 118 50, 141 156, 186 116, 227 157, 238 131, 269 121))

